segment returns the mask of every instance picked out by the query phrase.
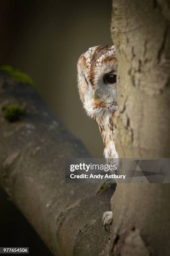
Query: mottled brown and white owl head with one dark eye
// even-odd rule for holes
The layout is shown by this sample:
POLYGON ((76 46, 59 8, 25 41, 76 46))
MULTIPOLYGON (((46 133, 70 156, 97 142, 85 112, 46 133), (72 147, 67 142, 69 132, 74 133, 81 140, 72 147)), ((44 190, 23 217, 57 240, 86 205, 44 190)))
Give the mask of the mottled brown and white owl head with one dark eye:
POLYGON ((87 114, 96 118, 117 108, 117 56, 113 45, 94 46, 81 54, 78 64, 79 95, 87 114))

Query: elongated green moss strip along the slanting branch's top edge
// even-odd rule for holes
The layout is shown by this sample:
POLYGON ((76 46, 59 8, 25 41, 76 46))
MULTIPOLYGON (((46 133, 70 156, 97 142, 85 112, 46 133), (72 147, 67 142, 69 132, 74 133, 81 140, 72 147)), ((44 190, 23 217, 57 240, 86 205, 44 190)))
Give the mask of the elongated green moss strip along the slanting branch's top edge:
POLYGON ((18 69, 14 69, 10 66, 0 66, 0 69, 3 70, 3 72, 9 74, 11 77, 13 77, 15 81, 28 84, 30 87, 35 88, 35 84, 33 80, 28 76, 28 74, 20 72, 18 69))

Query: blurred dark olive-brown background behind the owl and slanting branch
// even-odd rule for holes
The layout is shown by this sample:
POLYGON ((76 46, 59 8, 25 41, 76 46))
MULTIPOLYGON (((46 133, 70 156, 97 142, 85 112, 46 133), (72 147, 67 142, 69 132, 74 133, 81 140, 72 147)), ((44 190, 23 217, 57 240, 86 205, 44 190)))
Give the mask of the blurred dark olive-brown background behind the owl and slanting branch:
MULTIPOLYGON (((5 0, 0 3, 0 65, 32 77, 48 108, 88 148, 102 157, 99 129, 86 116, 77 90, 76 62, 99 44, 112 44, 111 0, 5 0)), ((0 191, 0 246, 29 246, 51 255, 20 212, 0 191)))

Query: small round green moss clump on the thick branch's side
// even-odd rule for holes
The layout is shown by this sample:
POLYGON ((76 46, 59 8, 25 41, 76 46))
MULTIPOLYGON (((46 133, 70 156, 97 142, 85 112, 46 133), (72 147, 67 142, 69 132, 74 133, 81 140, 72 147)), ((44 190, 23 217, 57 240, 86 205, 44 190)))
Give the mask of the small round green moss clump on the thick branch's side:
POLYGON ((24 108, 19 105, 11 104, 4 109, 4 118, 8 120, 8 122, 18 121, 23 114, 24 108))

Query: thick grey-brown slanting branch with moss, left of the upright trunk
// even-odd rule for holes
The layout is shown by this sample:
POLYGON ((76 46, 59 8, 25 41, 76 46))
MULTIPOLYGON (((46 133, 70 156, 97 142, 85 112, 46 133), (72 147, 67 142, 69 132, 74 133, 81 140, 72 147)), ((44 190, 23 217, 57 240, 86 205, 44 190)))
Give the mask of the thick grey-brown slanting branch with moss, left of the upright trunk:
POLYGON ((1 72, 0 185, 54 255, 98 255, 108 239, 101 217, 113 189, 96 195, 99 184, 66 184, 66 157, 89 154, 31 87, 1 72), (14 123, 4 119, 11 104, 25 109, 14 123))

